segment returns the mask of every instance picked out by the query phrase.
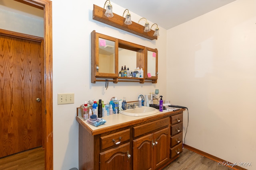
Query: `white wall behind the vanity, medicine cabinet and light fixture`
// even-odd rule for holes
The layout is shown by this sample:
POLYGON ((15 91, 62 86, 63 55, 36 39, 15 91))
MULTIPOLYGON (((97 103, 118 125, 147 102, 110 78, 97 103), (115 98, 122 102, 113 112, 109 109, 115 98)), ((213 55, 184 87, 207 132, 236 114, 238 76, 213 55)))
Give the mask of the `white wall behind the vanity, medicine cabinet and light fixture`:
MULTIPOLYGON (((93 4, 103 8, 102 0, 52 0, 53 27, 53 131, 54 170, 68 170, 78 167, 78 123, 76 107, 84 101, 102 99, 107 102, 113 96, 126 97, 127 101, 138 100, 140 94, 149 94, 159 89, 159 95, 166 97, 166 30, 160 28, 158 40, 148 40, 132 33, 116 29, 92 20, 93 4), (157 48, 158 83, 90 82, 90 33, 96 32, 130 41, 150 48, 157 48), (75 103, 57 105, 58 93, 75 93, 75 103)), ((112 3, 113 12, 122 16, 126 8, 112 3)), ((132 15, 132 21, 141 16, 132 15)), ((152 23, 150 23, 152 25, 152 23)), ((88 144, 90 145, 90 144, 88 144)))

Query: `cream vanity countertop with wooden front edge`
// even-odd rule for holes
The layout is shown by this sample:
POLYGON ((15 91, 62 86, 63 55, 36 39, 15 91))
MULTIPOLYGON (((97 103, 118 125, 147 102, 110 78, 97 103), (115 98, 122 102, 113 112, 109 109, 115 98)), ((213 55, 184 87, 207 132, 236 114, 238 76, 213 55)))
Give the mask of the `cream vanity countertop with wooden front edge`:
POLYGON ((106 117, 102 117, 102 119, 106 120, 106 123, 98 127, 84 121, 82 116, 76 116, 76 121, 78 121, 78 123, 82 125, 82 127, 84 127, 87 131, 90 131, 91 135, 98 135, 100 133, 112 131, 112 130, 126 127, 129 125, 150 121, 152 119, 156 119, 156 117, 158 119, 168 117, 170 114, 175 114, 184 110, 185 109, 178 109, 175 111, 170 111, 167 109, 164 111, 158 111, 157 113, 154 113, 152 115, 147 115, 147 116, 127 116, 121 113, 113 114, 113 115, 108 115, 106 117))

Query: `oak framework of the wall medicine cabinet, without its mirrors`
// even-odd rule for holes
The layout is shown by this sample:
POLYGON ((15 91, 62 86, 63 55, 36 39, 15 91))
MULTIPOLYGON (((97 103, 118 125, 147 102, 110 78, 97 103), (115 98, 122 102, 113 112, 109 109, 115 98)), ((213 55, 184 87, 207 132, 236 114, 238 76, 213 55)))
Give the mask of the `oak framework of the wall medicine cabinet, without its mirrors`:
POLYGON ((97 81, 106 81, 106 79, 109 82, 152 82, 156 83, 157 82, 157 76, 148 78, 146 76, 146 54, 147 50, 154 51, 156 53, 156 72, 157 70, 157 56, 158 56, 158 51, 157 49, 151 49, 148 47, 144 47, 142 45, 138 45, 135 43, 131 43, 128 41, 124 41, 122 39, 117 39, 114 37, 110 37, 104 34, 96 33, 96 31, 92 31, 91 33, 91 82, 96 83, 97 81), (102 73, 98 72, 97 66, 99 65, 99 38, 114 41, 115 42, 115 71, 114 73, 102 73), (136 67, 142 68, 144 70, 144 76, 143 78, 135 78, 135 77, 118 77, 118 48, 123 48, 127 49, 130 51, 135 51, 136 52, 136 67))

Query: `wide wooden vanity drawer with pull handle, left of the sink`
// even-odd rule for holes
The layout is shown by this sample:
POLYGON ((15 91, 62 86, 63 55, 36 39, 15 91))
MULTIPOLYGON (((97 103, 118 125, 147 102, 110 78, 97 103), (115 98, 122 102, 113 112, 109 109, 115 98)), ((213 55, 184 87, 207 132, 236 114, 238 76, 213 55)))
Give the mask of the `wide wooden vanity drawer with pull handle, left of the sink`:
POLYGON ((106 149, 115 145, 123 144, 130 139, 130 129, 116 132, 104 137, 100 137, 101 149, 106 149))

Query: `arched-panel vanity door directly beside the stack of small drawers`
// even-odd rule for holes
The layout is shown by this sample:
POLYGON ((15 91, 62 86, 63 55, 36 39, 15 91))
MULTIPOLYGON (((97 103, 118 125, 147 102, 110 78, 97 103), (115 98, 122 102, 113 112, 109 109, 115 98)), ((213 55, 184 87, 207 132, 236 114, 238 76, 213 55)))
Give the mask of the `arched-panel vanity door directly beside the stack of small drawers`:
POLYGON ((154 133, 154 169, 162 166, 170 157, 169 127, 154 133))

